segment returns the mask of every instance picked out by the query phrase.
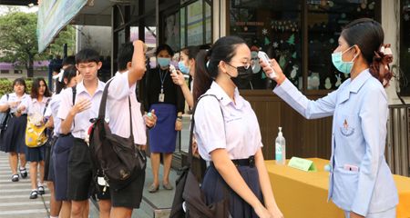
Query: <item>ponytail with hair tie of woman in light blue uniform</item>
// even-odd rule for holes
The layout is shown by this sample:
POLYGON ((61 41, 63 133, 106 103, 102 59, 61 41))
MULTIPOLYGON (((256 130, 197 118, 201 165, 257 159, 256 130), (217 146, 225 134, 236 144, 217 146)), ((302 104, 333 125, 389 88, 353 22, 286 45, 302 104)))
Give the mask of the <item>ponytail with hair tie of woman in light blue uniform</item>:
POLYGON ((389 64, 393 62, 393 53, 390 44, 380 45, 378 51, 374 52, 373 62, 370 64, 370 74, 372 74, 384 88, 390 83, 393 73, 389 64))

